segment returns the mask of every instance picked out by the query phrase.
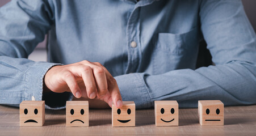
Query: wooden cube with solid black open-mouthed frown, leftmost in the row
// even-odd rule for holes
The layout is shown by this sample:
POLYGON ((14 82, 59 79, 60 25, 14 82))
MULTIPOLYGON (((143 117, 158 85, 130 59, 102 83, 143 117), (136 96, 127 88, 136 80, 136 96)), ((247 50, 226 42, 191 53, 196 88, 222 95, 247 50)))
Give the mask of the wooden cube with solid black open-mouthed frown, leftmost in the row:
POLYGON ((22 101, 19 104, 20 126, 43 126, 44 119, 44 101, 22 101))

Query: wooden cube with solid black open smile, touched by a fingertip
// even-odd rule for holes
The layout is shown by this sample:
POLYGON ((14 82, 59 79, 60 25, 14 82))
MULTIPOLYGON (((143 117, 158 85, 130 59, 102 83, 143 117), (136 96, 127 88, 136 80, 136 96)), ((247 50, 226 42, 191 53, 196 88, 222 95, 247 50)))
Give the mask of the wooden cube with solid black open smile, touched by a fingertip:
POLYGON ((135 103, 123 101, 123 107, 112 104, 112 126, 135 126, 135 103))

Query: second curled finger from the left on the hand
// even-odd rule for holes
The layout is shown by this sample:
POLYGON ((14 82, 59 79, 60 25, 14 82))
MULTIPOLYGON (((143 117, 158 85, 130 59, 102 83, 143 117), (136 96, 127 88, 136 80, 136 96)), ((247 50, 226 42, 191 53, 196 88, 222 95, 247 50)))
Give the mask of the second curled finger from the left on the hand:
POLYGON ((96 97, 96 84, 91 67, 84 65, 81 66, 81 76, 83 79, 83 83, 85 83, 87 96, 90 99, 94 99, 96 97))

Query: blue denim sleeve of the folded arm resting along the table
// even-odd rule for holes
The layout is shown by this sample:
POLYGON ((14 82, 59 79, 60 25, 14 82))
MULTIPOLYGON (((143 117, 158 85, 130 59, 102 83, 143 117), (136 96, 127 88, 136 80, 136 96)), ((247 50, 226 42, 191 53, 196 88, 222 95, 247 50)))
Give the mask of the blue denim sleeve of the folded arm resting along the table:
POLYGON ((153 107, 154 100, 177 100, 181 108, 197 107, 198 100, 256 103, 256 36, 241 1, 202 1, 199 16, 215 66, 116 76, 123 100, 136 108, 153 107))

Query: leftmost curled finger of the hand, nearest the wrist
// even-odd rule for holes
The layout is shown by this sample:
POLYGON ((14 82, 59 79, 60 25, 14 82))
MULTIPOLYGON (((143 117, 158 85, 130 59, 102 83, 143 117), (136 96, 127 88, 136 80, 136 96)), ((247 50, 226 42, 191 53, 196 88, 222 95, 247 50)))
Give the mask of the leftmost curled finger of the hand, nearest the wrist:
POLYGON ((62 79, 66 82, 72 94, 77 98, 81 97, 81 90, 75 80, 74 75, 70 71, 65 72, 63 75, 64 76, 62 76, 62 79))

